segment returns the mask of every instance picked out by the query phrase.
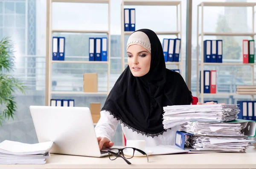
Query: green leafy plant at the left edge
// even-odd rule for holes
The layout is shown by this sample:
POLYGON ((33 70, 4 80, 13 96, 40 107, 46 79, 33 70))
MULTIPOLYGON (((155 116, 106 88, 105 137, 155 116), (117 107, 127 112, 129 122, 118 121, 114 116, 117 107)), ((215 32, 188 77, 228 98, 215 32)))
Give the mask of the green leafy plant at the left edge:
POLYGON ((26 86, 13 77, 10 73, 14 70, 14 59, 12 41, 5 37, 0 41, 0 125, 6 119, 15 115, 17 106, 14 93, 17 91, 25 94, 26 86))

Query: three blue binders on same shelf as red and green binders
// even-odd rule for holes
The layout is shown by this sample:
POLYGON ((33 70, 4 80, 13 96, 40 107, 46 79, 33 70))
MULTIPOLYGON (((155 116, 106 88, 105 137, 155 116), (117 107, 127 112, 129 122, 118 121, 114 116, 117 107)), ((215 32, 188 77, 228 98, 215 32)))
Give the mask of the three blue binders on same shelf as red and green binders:
POLYGON ((222 40, 204 40, 204 62, 222 63, 222 40))

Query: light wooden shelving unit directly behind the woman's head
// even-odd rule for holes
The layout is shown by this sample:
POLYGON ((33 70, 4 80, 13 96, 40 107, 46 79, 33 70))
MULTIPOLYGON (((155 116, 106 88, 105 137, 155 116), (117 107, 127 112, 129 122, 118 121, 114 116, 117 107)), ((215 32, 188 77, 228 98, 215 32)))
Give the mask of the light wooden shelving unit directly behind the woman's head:
MULTIPOLYGON (((133 32, 124 31, 124 6, 176 6, 176 18, 180 16, 180 22, 177 19, 177 31, 167 31, 167 32, 155 32, 157 35, 176 35, 178 38, 180 36, 180 62, 166 62, 166 65, 177 65, 177 69, 180 69, 180 74, 182 74, 182 34, 181 34, 181 1, 161 1, 161 0, 122 0, 121 3, 121 66, 122 72, 125 70, 125 35, 131 35, 133 32), (180 14, 179 12, 180 11, 180 14)), ((135 19, 136 20, 136 19, 135 19)))

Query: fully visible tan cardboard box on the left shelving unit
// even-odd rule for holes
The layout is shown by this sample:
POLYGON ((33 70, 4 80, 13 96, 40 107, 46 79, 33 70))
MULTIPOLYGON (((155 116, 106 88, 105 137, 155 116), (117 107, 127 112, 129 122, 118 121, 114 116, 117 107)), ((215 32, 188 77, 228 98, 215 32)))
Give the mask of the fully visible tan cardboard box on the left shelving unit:
POLYGON ((97 73, 84 73, 84 92, 98 92, 97 73))

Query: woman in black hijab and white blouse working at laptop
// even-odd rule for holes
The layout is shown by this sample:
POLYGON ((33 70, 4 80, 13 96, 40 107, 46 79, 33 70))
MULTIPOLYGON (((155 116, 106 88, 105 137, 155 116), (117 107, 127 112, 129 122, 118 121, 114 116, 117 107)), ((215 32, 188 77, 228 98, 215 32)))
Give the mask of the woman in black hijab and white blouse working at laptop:
POLYGON ((189 105, 192 94, 183 77, 166 69, 160 40, 140 29, 127 43, 128 67, 107 97, 95 127, 100 149, 111 147, 119 121, 127 140, 145 140, 147 146, 172 145, 175 128, 163 129, 163 107, 189 105))

